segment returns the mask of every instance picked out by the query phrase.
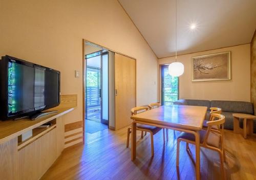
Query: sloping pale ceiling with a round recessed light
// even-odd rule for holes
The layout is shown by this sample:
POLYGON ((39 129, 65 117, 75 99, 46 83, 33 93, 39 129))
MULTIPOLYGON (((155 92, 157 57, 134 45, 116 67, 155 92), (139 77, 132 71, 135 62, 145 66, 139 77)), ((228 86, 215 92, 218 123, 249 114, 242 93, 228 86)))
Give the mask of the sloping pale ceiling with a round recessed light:
MULTIPOLYGON (((158 58, 175 55, 174 0, 119 0, 158 58)), ((256 0, 177 0, 178 54, 249 43, 256 0), (190 30, 191 23, 197 28, 190 30)))

